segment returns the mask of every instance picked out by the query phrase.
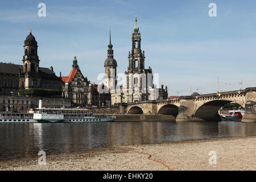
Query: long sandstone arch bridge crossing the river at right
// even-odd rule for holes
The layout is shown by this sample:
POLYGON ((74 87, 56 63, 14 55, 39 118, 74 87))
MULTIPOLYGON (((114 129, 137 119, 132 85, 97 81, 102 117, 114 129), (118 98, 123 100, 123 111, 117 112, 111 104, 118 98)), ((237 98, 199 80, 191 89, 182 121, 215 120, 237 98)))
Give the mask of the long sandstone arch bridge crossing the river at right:
POLYGON ((122 110, 126 114, 168 114, 172 115, 176 122, 219 121, 218 110, 229 102, 237 102, 245 107, 242 122, 256 122, 256 88, 135 102, 123 105, 122 110))

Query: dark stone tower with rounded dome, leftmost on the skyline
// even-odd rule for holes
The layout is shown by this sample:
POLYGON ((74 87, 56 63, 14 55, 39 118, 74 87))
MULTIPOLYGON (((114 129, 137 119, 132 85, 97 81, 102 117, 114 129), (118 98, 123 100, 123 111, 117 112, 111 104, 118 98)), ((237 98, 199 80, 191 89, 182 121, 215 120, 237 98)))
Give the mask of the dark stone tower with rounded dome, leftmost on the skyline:
POLYGON ((23 73, 25 77, 25 88, 37 88, 40 86, 38 42, 31 33, 24 41, 23 73))

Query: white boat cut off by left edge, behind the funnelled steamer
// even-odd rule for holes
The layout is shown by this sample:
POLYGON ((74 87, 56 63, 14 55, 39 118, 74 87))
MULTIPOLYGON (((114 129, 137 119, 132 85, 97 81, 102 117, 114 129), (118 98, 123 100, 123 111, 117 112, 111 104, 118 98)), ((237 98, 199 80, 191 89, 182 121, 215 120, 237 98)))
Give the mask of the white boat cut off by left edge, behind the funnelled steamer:
POLYGON ((0 123, 34 123, 33 113, 0 113, 0 123))

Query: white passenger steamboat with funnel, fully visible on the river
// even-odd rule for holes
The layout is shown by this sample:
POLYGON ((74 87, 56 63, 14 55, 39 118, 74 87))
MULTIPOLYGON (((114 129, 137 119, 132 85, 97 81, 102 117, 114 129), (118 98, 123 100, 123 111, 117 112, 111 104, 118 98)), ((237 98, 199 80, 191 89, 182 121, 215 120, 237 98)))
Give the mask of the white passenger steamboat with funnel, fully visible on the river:
POLYGON ((89 109, 37 108, 33 118, 37 122, 111 122, 114 116, 92 114, 89 109))

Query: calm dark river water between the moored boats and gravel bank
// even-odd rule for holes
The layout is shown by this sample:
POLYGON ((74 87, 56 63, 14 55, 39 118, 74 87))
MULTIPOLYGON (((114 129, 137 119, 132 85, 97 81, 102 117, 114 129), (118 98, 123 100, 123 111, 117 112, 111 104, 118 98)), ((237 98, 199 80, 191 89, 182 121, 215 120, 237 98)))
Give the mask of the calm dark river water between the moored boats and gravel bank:
POLYGON ((256 123, 1 123, 0 159, 172 140, 256 135, 256 123))

